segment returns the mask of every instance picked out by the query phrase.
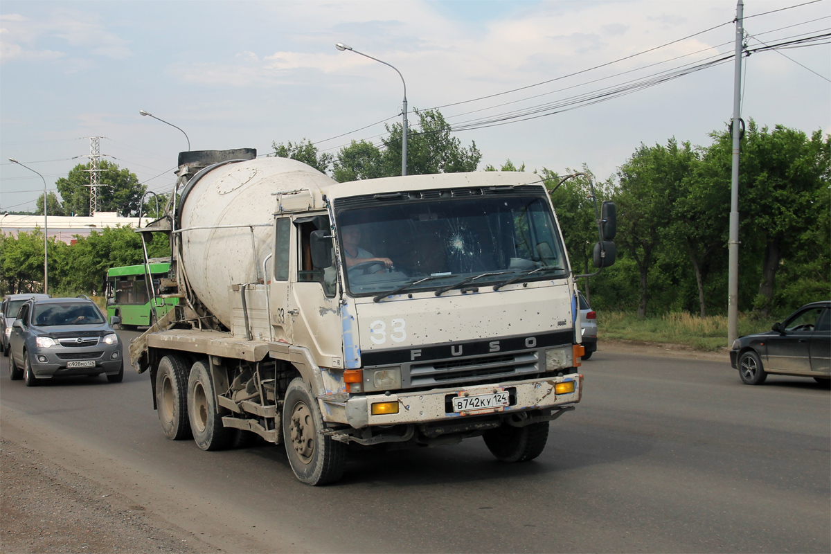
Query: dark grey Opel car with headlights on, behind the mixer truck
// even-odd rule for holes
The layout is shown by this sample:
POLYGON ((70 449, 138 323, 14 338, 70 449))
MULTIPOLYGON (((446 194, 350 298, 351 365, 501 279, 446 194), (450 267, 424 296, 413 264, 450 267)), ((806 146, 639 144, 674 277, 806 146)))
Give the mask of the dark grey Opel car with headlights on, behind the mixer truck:
POLYGON ((27 386, 64 375, 106 373, 111 383, 124 377, 118 335, 85 297, 28 300, 12 323, 8 349, 9 377, 27 386))

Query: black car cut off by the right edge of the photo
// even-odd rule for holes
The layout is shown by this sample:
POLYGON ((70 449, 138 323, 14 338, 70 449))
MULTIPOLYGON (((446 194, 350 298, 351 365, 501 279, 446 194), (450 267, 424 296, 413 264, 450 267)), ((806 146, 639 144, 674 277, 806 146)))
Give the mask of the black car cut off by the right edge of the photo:
POLYGON ((730 365, 745 385, 761 385, 769 373, 831 378, 831 302, 811 302, 794 311, 772 331, 741 336, 733 342, 730 365))

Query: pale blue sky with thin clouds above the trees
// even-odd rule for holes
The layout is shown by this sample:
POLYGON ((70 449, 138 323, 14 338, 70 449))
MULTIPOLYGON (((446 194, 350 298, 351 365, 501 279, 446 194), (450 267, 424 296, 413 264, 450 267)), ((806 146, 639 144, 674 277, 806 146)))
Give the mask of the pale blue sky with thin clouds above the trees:
MULTIPOLYGON (((831 0, 744 9, 750 48, 831 28, 831 0)), ((404 86, 355 51, 401 71, 411 125, 412 110, 440 109, 462 145, 475 142, 479 169, 585 165, 605 180, 642 144, 706 146, 725 130, 735 12, 735 0, 3 0, 0 213, 33 210, 44 187, 7 159, 55 191, 92 136, 101 159, 157 193, 173 188, 188 141, 261 155, 303 139, 332 154, 377 144, 384 122, 401 121, 404 86)), ((745 57, 741 116, 828 134, 831 46, 820 42, 745 57)))

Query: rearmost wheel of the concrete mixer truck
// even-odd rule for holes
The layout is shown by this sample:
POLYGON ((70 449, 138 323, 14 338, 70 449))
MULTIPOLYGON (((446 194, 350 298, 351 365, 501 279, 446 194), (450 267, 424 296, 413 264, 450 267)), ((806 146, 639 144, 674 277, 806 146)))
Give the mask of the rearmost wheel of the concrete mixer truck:
POLYGON ((184 359, 165 355, 156 371, 156 407, 161 430, 170 440, 188 439, 188 369, 184 359))

